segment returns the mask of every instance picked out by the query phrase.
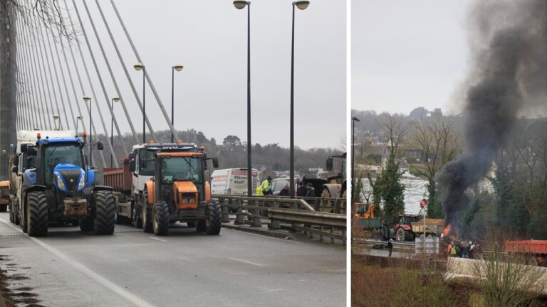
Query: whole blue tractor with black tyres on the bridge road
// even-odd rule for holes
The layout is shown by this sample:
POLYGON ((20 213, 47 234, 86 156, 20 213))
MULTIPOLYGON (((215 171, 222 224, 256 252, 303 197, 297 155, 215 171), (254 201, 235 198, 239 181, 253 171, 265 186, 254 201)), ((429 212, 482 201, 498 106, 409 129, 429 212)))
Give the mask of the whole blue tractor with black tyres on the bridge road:
MULTIPOLYGON (((112 235, 115 225, 113 189, 98 185, 95 169, 86 164, 84 139, 42 139, 36 146, 21 144, 21 152, 33 158, 21 178, 19 219, 29 236, 48 234, 48 222, 70 222, 82 231, 112 235)), ((97 149, 103 150, 98 141, 97 149)), ((16 171, 17 166, 14 167, 16 171)))

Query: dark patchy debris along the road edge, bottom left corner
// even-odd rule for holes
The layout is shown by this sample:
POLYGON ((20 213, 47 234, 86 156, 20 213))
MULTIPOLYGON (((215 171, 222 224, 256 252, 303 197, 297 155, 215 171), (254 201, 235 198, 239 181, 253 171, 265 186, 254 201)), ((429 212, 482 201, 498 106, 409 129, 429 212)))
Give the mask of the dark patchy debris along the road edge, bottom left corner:
POLYGON ((0 255, 0 293, 4 301, 5 307, 43 307, 37 297, 38 294, 33 293, 33 288, 21 286, 21 281, 29 279, 21 273, 21 269, 29 269, 28 267, 19 267, 5 255, 0 255), (16 274, 10 272, 18 272, 16 274))

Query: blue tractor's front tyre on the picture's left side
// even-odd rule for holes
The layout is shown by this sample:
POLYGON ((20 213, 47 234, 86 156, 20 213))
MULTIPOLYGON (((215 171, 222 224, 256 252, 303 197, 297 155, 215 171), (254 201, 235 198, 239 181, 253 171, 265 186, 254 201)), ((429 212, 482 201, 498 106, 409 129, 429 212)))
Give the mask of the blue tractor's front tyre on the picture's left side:
POLYGON ((28 193, 27 233, 31 237, 48 235, 48 198, 44 192, 28 193))

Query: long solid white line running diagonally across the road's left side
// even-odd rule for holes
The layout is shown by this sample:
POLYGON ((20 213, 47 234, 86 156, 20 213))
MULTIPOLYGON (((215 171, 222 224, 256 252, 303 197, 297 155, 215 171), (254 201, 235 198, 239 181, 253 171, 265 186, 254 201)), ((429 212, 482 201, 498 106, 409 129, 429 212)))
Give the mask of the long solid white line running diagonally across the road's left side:
MULTIPOLYGON (((14 225, 11 225, 10 222, 7 222, 3 218, 0 218, 2 222, 4 222, 6 225, 8 225, 11 228, 14 228, 15 230, 22 232, 19 228, 15 227, 14 225)), ((43 242, 41 239, 36 239, 35 237, 28 237, 28 239, 33 240, 36 244, 40 245, 41 247, 47 249, 52 254, 56 255, 57 257, 61 258, 64 262, 70 264, 78 271, 82 272, 83 274, 87 275, 91 279, 97 281, 99 284, 104 286, 107 289, 110 289, 110 291, 113 291, 114 293, 118 294, 119 296, 125 298, 125 300, 129 301, 130 303, 135 304, 135 306, 142 306, 142 307, 155 307, 151 303, 148 303, 147 301, 142 300, 142 298, 139 298, 135 296, 134 294, 125 291, 120 286, 114 284, 112 281, 109 281, 108 279, 105 279, 103 276, 100 276, 99 274, 95 273, 94 271, 91 271, 91 269, 88 269, 83 264, 80 264, 79 262, 76 262, 74 259, 71 259, 70 257, 66 256, 62 252, 60 252, 55 247, 52 247, 51 245, 43 242)))

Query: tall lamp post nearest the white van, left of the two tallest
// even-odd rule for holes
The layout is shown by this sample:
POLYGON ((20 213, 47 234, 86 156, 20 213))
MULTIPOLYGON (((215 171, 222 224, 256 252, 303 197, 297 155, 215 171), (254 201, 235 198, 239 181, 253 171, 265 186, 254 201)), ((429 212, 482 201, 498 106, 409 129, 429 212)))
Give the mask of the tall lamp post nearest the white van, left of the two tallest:
POLYGON ((251 163, 251 1, 234 1, 236 9, 247 7, 247 195, 253 195, 251 163))

